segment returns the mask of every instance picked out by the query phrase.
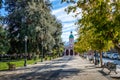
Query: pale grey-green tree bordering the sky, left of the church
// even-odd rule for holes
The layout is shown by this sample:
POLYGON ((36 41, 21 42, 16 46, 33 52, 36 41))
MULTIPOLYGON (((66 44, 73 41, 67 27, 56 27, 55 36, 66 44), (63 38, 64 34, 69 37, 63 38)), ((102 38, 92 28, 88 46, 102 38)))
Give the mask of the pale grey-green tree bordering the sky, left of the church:
MULTIPOLYGON (((42 3, 45 4, 44 2, 42 3)), ((33 25, 36 26, 35 30, 37 32, 39 49, 43 48, 44 53, 47 53, 56 44, 56 36, 59 37, 58 39, 61 39, 62 25, 57 21, 55 16, 50 14, 50 7, 46 7, 50 5, 49 2, 46 2, 46 5, 41 5, 41 3, 34 1, 29 4, 31 19, 34 21, 33 25)))

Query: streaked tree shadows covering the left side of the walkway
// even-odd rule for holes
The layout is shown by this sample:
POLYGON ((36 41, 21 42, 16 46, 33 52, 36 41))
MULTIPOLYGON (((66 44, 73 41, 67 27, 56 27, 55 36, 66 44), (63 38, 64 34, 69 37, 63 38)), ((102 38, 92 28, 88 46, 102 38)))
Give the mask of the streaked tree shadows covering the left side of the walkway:
POLYGON ((13 71, 15 74, 0 76, 0 80, 61 80, 62 78, 68 78, 83 72, 83 70, 70 68, 69 65, 65 64, 74 59, 73 57, 65 60, 58 59, 43 65, 19 68, 13 71), (21 73, 21 71, 24 72, 21 73))

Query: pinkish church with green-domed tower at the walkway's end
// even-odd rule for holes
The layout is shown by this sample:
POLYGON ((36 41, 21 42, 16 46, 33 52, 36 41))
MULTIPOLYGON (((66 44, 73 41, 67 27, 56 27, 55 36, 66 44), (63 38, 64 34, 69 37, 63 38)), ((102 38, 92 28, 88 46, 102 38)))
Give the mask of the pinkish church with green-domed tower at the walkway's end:
POLYGON ((69 43, 65 45, 64 56, 73 56, 74 55, 74 36, 72 31, 69 35, 69 43))

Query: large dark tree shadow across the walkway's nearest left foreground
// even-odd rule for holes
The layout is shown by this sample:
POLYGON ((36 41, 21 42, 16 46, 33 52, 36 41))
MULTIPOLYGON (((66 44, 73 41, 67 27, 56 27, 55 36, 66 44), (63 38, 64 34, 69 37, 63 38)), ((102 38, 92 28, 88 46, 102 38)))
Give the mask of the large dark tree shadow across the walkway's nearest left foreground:
POLYGON ((6 76, 0 80, 61 80, 63 78, 68 78, 70 76, 77 75, 79 72, 83 72, 82 70, 78 70, 75 68, 72 69, 58 69, 44 72, 29 72, 26 74, 14 74, 14 76, 6 76))

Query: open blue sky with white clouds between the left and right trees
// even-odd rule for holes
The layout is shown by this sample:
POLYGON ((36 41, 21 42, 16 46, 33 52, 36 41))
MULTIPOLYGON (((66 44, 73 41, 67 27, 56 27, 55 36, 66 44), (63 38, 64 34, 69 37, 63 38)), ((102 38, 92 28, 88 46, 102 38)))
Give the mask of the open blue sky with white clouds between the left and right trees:
POLYGON ((61 3, 61 0, 50 0, 52 3, 52 14, 56 16, 58 20, 62 22, 63 28, 62 28, 62 40, 64 42, 69 41, 69 35, 70 32, 73 32, 74 38, 76 39, 77 36, 77 26, 75 25, 76 18, 73 17, 74 13, 67 14, 64 10, 67 8, 70 4, 67 3, 61 3))

